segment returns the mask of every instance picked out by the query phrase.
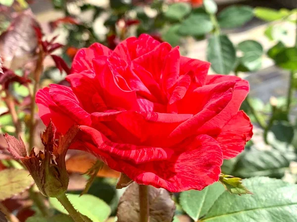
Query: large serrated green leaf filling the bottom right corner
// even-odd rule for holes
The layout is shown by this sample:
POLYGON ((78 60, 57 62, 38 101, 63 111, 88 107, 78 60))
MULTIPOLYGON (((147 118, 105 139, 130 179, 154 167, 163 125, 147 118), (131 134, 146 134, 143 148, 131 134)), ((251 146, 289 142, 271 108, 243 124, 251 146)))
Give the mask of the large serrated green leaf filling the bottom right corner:
POLYGON ((243 184, 253 195, 231 195, 225 191, 202 222, 295 222, 297 185, 256 177, 243 184))

